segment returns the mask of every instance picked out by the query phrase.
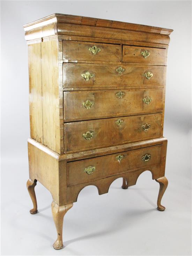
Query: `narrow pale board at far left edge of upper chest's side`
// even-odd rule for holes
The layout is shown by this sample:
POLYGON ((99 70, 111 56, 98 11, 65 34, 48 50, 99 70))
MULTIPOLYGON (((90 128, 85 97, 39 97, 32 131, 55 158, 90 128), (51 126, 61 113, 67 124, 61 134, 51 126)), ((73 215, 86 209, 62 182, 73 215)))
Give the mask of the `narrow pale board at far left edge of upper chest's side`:
POLYGON ((30 136, 43 143, 41 45, 28 46, 30 136))

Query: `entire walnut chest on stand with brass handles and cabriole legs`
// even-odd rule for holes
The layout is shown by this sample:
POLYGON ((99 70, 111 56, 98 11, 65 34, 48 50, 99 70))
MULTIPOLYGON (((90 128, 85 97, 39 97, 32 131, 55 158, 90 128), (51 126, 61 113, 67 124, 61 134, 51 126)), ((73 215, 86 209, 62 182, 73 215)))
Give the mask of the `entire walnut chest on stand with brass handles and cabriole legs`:
POLYGON ((172 29, 82 16, 53 14, 23 26, 28 44, 30 136, 27 188, 52 194, 62 248, 65 213, 79 192, 95 185, 123 189, 149 170, 160 184, 167 140, 163 137, 167 51, 172 29))

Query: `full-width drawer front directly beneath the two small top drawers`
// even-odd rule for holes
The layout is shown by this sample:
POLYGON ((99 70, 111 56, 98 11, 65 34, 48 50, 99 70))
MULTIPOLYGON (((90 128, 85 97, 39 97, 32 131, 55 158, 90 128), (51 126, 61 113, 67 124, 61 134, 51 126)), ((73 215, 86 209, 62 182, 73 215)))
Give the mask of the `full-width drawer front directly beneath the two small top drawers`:
POLYGON ((64 63, 64 87, 164 85, 164 66, 64 63))

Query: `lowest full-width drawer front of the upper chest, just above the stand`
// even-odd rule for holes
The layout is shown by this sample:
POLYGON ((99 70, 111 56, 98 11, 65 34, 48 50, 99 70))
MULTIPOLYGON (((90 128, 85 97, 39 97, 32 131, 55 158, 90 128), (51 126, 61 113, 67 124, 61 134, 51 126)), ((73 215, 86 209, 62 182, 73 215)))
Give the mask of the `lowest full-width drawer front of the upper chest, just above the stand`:
POLYGON ((64 123, 64 151, 72 153, 161 137, 162 114, 64 123))

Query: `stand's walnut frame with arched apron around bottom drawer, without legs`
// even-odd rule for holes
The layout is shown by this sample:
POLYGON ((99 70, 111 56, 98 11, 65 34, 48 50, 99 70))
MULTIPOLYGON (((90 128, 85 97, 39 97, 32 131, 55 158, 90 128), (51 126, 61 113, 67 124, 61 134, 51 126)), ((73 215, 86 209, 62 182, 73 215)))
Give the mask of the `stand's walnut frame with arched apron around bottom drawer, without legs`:
MULTIPOLYGON (((165 174, 165 161, 166 161, 166 150, 167 150, 167 139, 165 138, 157 138, 154 140, 148 140, 148 141, 139 141, 134 143, 128 143, 126 145, 126 148, 124 145, 119 145, 118 147, 113 146, 113 150, 110 151, 106 150, 102 153, 95 153, 91 155, 85 155, 81 152, 70 155, 62 155, 61 157, 59 154, 53 152, 52 150, 48 149, 44 145, 38 143, 37 141, 30 139, 28 142, 29 145, 29 170, 30 170, 30 179, 38 180, 38 182, 42 183, 52 194, 53 200, 59 205, 66 205, 71 202, 75 202, 77 200, 77 196, 79 192, 88 185, 95 185, 98 188, 99 194, 107 193, 109 190, 109 186, 111 183, 120 177, 126 178, 128 181, 128 186, 132 186, 136 184, 136 180, 138 179, 139 175, 145 171, 149 170, 152 172, 152 178, 158 179, 161 177, 164 177, 165 174), (153 145, 153 146, 152 146, 153 145), (111 157, 115 155, 127 155, 130 156, 133 154, 133 152, 140 152, 139 150, 143 150, 144 152, 149 148, 161 148, 161 154, 155 155, 155 158, 157 157, 160 159, 160 162, 156 165, 153 165, 150 163, 152 159, 150 159, 147 164, 143 166, 143 168, 140 168, 139 170, 135 170, 135 167, 130 163, 129 167, 134 170, 129 169, 127 172, 119 173, 117 175, 113 175, 111 177, 106 177, 102 179, 97 180, 91 180, 86 183, 77 184, 74 186, 68 186, 67 187, 67 165, 72 163, 78 163, 78 162, 86 162, 90 163, 89 161, 94 160, 94 158, 101 159, 102 157, 111 157), (105 154, 105 156, 103 156, 105 154), (113 155, 111 155, 113 154, 113 155), (79 155, 77 157, 76 155, 79 155), (64 158, 66 156, 69 156, 70 158, 64 158), (97 157, 101 156, 101 157, 97 157), (94 158, 92 158, 94 157, 94 158), (43 161, 42 161, 43 159, 43 161), (82 159, 82 160, 81 160, 82 159), (81 160, 81 161, 75 161, 74 160, 81 160), (58 182, 57 182, 58 180, 58 182)), ((100 150, 100 149, 99 149, 100 150)), ((98 151, 99 151, 98 150, 98 151)), ((94 150, 93 150, 94 152, 94 150)), ((155 150, 155 152, 157 152, 155 150)), ((139 155, 140 156, 140 155, 139 155)), ((133 154, 134 157, 134 154, 133 154)), ((153 159, 153 161, 158 161, 156 159, 153 159)), ((123 165, 123 160, 120 163, 122 166, 121 168, 124 168, 126 170, 126 166, 123 165)), ((139 164, 139 163, 138 163, 139 164)), ((110 165, 111 168, 112 165, 110 165)), ((78 167, 77 167, 78 168, 78 167)), ((83 173, 86 174, 86 173, 83 173)))

